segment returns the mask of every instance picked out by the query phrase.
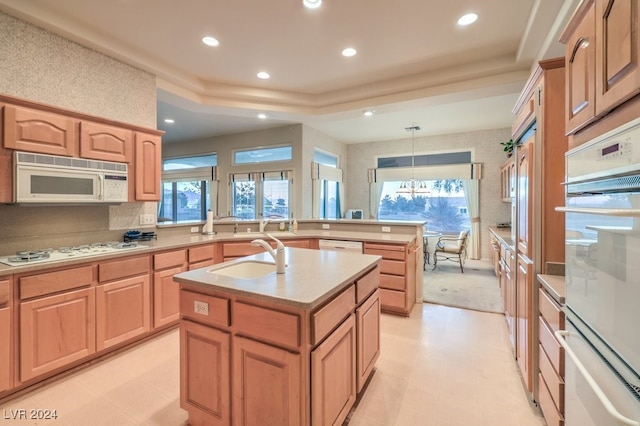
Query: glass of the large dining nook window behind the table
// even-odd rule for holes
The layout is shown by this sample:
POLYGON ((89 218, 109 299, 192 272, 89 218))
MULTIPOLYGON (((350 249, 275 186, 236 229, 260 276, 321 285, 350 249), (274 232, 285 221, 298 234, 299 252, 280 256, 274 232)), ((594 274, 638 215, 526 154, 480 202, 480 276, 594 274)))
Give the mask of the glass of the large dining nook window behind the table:
POLYGON ((430 231, 456 234, 471 227, 460 179, 427 180, 424 192, 403 193, 405 182, 384 182, 379 220, 424 220, 430 231))

